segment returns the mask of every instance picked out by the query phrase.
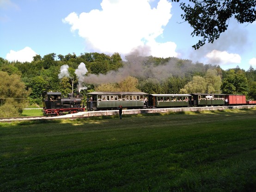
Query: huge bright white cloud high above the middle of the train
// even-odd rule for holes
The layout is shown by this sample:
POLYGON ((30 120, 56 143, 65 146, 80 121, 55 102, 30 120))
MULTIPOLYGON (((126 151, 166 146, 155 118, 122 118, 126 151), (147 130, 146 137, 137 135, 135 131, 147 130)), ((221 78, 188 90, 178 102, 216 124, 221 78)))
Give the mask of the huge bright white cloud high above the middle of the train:
POLYGON ((155 41, 171 18, 171 3, 167 0, 159 0, 156 8, 151 8, 148 0, 102 0, 101 7, 102 10, 80 15, 72 12, 63 19, 71 25, 71 31, 78 30, 79 36, 86 40, 87 48, 128 54, 147 46, 148 55, 177 56, 174 42, 155 41))

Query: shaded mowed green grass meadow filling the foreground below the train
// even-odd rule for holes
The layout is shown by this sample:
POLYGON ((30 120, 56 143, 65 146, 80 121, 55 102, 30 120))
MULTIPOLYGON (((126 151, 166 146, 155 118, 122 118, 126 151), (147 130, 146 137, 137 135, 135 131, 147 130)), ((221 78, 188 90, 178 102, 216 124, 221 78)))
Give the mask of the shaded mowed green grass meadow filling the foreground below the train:
POLYGON ((0 123, 1 192, 256 191, 256 109, 0 123))

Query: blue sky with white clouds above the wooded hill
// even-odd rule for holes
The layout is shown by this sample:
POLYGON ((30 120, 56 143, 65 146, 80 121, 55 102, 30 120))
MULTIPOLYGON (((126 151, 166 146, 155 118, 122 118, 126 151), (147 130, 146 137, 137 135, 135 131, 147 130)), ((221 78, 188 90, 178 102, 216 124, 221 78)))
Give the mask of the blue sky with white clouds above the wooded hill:
POLYGON ((194 50, 200 38, 181 14, 168 0, 0 0, 0 57, 118 52, 256 68, 256 22, 231 19, 218 40, 194 50))

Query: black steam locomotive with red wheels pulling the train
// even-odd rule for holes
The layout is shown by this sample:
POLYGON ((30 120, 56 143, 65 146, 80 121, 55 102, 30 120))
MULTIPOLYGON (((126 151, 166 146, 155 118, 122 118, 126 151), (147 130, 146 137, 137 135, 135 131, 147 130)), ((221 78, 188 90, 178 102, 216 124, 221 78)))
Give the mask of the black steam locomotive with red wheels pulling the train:
POLYGON ((60 115, 64 113, 77 113, 85 111, 79 95, 68 94, 68 97, 61 97, 61 92, 46 92, 43 94, 43 114, 60 115))

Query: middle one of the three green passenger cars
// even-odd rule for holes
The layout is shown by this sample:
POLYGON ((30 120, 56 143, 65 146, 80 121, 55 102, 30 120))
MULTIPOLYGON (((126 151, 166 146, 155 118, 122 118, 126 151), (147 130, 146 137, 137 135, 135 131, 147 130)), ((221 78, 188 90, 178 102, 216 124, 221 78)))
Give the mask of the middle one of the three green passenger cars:
POLYGON ((150 108, 188 107, 191 97, 189 94, 151 94, 147 96, 150 108))

